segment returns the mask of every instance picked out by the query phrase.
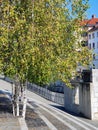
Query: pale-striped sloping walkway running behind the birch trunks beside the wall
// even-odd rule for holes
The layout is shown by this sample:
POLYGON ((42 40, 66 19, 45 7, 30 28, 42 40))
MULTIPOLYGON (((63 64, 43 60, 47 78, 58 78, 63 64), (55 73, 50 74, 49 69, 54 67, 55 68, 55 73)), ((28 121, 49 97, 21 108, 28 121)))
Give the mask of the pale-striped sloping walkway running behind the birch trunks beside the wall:
MULTIPOLYGON (((11 84, 0 80, 0 89, 11 92, 11 84)), ((29 107, 36 110, 50 130, 98 130, 98 121, 72 115, 59 104, 48 101, 27 90, 29 107)))

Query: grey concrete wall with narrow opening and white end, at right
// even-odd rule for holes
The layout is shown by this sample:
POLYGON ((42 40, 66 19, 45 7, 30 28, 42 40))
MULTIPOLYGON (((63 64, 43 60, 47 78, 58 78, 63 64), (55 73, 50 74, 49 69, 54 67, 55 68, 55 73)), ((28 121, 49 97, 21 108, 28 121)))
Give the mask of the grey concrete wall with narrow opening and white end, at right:
MULTIPOLYGON (((64 107, 69 111, 81 113, 89 119, 98 120, 98 69, 91 70, 89 74, 88 76, 91 78, 89 82, 84 79, 78 84, 74 83, 73 89, 65 87, 64 107), (79 89, 78 94, 77 88, 79 89), (79 103, 76 105, 77 100, 79 103)), ((87 76, 84 77, 87 78, 87 76)))

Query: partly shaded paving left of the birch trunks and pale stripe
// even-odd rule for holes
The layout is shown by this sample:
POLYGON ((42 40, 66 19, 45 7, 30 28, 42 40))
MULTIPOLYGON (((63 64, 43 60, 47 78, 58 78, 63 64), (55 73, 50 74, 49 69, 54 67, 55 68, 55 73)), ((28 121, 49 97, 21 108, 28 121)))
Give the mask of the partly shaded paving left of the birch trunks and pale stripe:
POLYGON ((0 90, 0 130, 21 130, 18 118, 12 114, 11 100, 3 90, 0 90))

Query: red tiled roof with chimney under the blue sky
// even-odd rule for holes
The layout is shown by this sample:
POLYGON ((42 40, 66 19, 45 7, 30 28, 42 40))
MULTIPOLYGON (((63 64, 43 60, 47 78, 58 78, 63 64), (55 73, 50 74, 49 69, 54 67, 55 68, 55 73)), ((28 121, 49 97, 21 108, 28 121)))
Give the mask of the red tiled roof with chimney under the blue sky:
POLYGON ((86 19, 86 20, 83 20, 81 22, 82 25, 85 25, 85 26, 94 26, 96 24, 98 24, 98 18, 95 18, 94 15, 92 15, 92 18, 91 19, 86 19))

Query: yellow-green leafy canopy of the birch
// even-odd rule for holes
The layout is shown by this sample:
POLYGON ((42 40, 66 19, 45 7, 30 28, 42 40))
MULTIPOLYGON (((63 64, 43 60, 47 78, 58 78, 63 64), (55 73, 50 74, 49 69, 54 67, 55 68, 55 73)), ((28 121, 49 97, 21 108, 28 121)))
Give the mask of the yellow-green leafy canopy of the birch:
POLYGON ((2 0, 0 68, 39 85, 69 83, 78 63, 88 65, 80 21, 88 0, 2 0))

